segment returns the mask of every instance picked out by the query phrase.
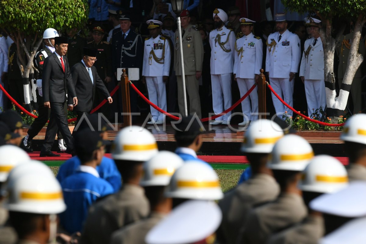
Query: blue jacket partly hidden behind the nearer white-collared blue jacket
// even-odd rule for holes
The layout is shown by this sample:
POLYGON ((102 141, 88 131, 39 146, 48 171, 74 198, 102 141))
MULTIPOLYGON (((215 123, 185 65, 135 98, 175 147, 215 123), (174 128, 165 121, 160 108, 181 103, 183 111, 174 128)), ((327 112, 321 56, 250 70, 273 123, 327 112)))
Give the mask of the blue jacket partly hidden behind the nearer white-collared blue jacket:
MULTIPOLYGON (((64 162, 57 174, 56 178, 62 183, 66 177, 75 173, 75 170, 80 166, 80 159, 75 156, 64 162)), ((108 181, 112 187, 113 192, 117 192, 121 188, 121 174, 117 170, 116 164, 113 159, 103 157, 102 162, 97 166, 97 171, 100 177, 108 181)))

